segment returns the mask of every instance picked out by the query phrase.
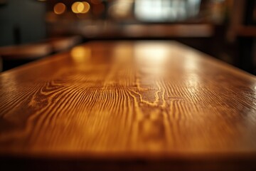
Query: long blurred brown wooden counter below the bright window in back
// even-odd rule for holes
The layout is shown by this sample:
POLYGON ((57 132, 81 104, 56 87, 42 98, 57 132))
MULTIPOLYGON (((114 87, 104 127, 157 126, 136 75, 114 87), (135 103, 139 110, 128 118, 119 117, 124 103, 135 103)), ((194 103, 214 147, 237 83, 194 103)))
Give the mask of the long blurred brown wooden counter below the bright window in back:
POLYGON ((209 38, 212 24, 124 24, 88 25, 77 30, 88 39, 129 38, 209 38))

